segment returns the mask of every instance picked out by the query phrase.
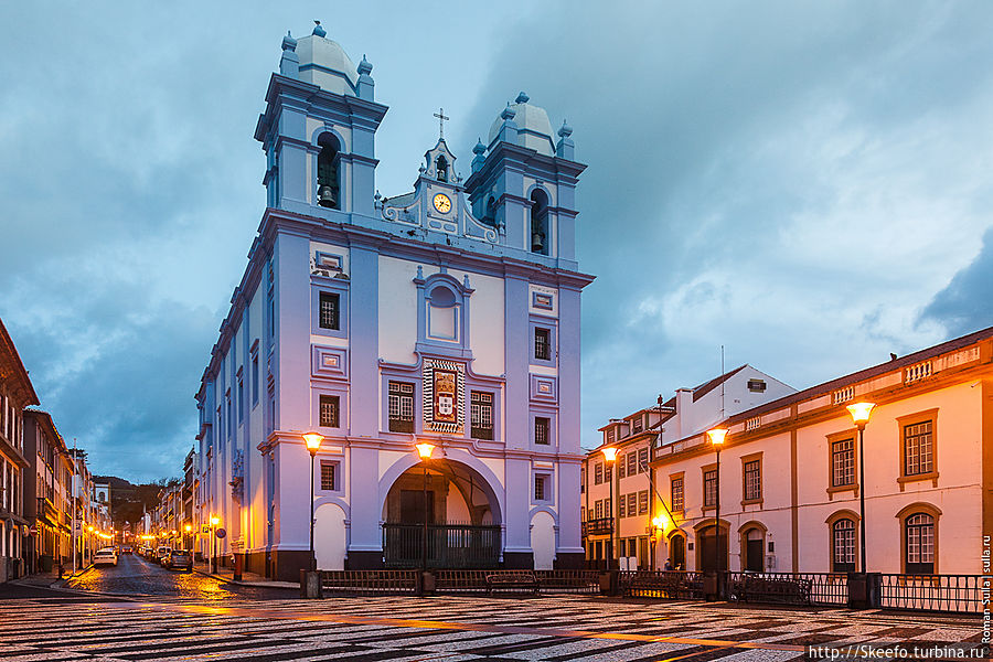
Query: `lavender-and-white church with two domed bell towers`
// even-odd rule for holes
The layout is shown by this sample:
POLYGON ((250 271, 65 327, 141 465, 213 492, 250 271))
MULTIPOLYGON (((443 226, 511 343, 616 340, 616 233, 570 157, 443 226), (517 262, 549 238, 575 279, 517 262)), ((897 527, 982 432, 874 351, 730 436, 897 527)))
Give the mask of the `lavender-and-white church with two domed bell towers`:
POLYGON ((576 567, 592 277, 572 129, 521 93, 468 177, 439 136, 382 197, 371 72, 320 25, 282 41, 255 132, 267 209, 196 394, 200 530, 297 578, 313 480, 321 569, 576 567))

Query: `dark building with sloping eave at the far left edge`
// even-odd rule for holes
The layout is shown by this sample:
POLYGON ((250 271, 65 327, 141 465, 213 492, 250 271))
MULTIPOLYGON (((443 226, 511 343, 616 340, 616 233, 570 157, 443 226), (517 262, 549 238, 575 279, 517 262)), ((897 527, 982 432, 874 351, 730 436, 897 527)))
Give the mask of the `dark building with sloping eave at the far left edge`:
POLYGON ((0 581, 24 573, 24 408, 36 404, 28 371, 0 321, 0 581))

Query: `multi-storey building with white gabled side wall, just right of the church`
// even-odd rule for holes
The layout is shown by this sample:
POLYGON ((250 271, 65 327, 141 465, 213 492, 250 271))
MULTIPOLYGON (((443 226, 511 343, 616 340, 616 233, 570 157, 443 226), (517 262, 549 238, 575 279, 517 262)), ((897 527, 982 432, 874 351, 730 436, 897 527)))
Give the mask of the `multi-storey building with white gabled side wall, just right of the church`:
MULTIPOLYGON (((583 462, 580 516, 587 560, 606 566, 610 559, 632 569, 664 567, 664 562, 655 565, 654 531, 669 511, 649 467, 653 450, 703 433, 726 415, 792 393, 794 388, 746 364, 694 388, 679 388, 669 399, 660 395, 656 406, 601 427, 601 445, 583 462), (605 448, 617 450, 612 462, 605 448)), ((685 568, 685 563, 676 558, 672 566, 685 568)))

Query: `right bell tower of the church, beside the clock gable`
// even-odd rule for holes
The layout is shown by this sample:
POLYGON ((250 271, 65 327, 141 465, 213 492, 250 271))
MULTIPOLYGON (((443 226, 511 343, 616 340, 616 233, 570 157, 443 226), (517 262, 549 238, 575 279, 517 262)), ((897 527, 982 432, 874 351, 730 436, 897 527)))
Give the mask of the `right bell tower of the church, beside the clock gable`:
POLYGON ((548 114, 530 100, 519 94, 493 121, 488 143, 477 142, 466 191, 476 217, 496 227, 508 247, 576 269, 576 184, 586 166, 575 161, 572 127, 563 121, 556 142, 548 114))

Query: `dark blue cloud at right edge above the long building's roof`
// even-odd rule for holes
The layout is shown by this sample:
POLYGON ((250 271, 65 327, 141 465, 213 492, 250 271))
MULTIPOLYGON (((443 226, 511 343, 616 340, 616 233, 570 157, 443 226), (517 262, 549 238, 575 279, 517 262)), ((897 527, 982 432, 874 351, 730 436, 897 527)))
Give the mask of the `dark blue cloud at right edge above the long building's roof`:
POLYGON ((943 324, 952 335, 993 327, 993 228, 986 231, 980 254, 935 295, 921 321, 943 324))

